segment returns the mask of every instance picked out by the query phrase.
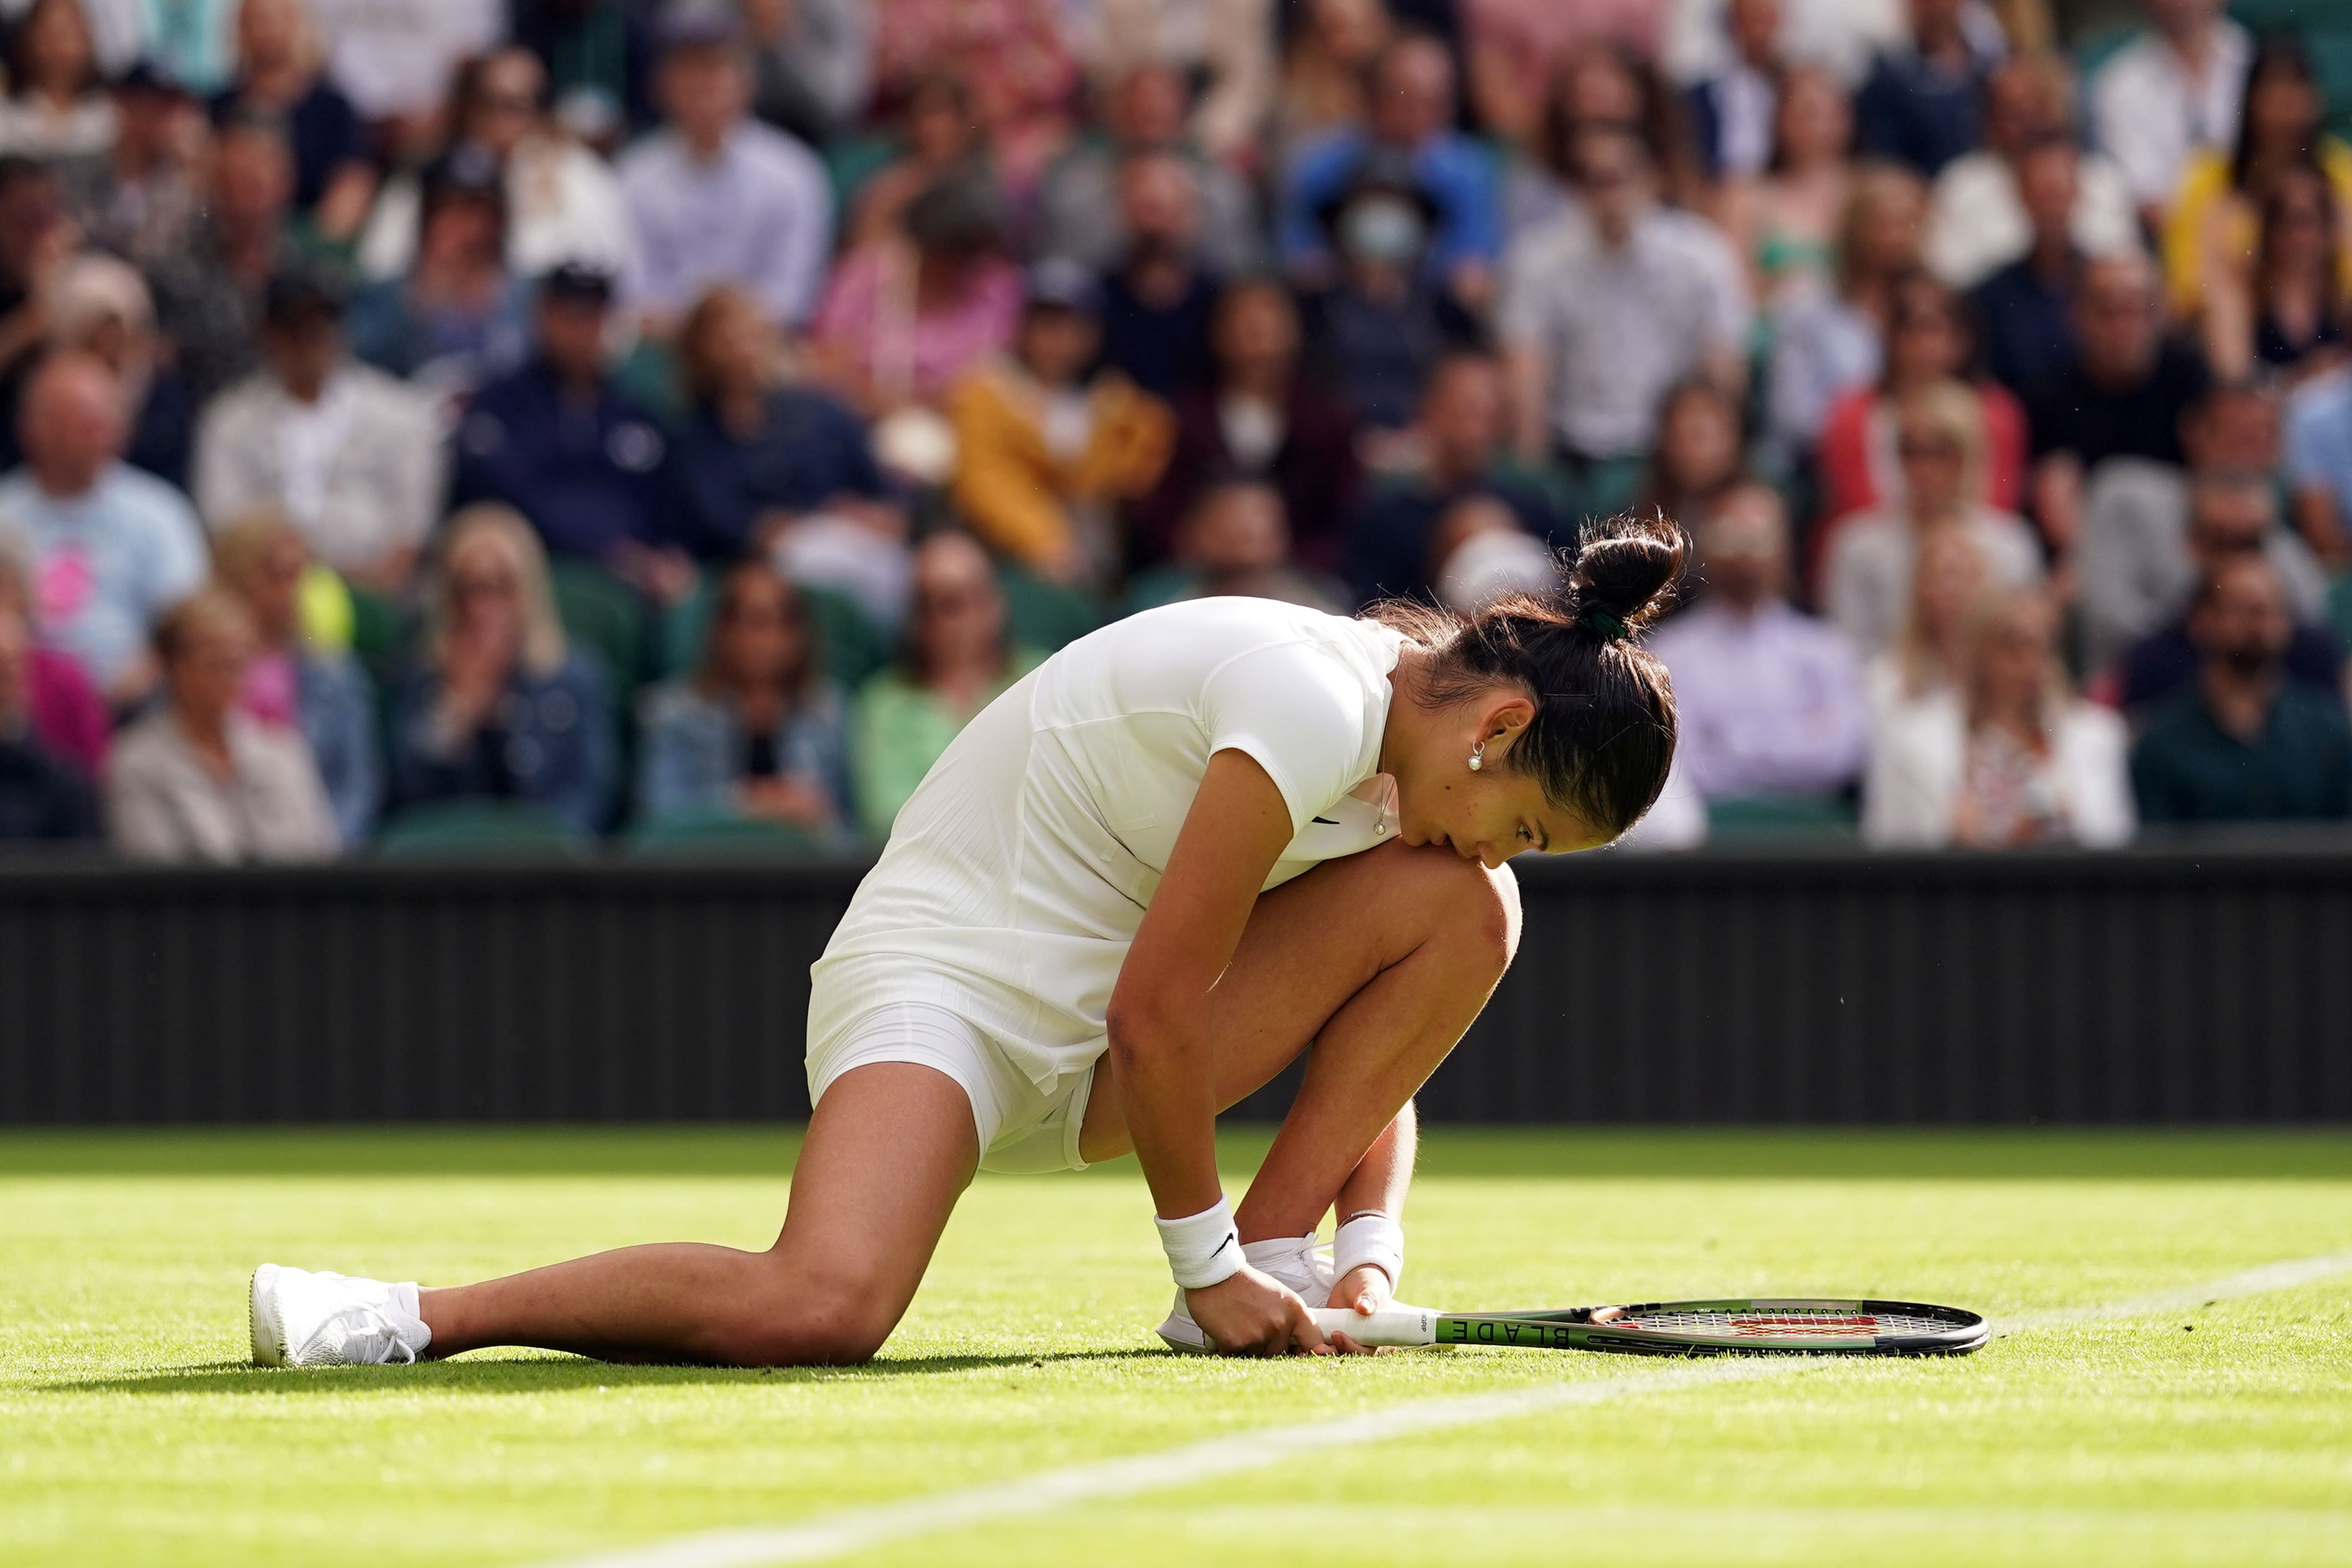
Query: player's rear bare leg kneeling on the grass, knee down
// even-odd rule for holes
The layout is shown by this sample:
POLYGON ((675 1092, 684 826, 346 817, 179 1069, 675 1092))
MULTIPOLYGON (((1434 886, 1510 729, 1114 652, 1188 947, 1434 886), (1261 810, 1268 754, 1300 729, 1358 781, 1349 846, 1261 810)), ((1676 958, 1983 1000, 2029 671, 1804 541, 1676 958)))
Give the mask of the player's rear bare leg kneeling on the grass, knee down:
POLYGON ((534 1345, 612 1361, 863 1361, 915 1300, 978 1161, 962 1084, 913 1063, 854 1067, 809 1119, 771 1248, 626 1246, 426 1291, 428 1354, 534 1345))

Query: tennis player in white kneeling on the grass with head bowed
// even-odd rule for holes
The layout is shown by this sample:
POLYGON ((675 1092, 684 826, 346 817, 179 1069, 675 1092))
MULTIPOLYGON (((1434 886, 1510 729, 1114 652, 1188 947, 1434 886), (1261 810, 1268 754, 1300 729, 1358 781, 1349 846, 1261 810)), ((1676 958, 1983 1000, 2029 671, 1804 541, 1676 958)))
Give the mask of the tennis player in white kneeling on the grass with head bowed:
POLYGON ((814 969, 816 1112, 771 1248, 437 1291, 263 1265, 254 1359, 863 1361, 974 1171, 1120 1154, 1176 1276, 1169 1345, 1359 1349, 1308 1305, 1397 1288, 1414 1091, 1519 936, 1503 863, 1606 844, 1665 783, 1675 696, 1632 637, 1684 550, 1625 517, 1557 597, 1470 618, 1221 597, 1073 642, 946 750, 814 969), (1310 1046, 1235 1211, 1216 1112, 1310 1046))

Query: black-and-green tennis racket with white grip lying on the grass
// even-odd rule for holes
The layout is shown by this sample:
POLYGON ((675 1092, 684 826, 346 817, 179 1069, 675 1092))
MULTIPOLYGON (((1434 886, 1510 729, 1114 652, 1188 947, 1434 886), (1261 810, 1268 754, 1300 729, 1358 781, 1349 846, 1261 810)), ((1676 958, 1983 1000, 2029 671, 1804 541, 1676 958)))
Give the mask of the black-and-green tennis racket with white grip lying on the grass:
POLYGON ((1926 1302, 1738 1298, 1642 1302, 1564 1312, 1430 1312, 1381 1307, 1371 1316, 1315 1307, 1315 1326, 1357 1345, 1494 1345, 1501 1349, 1606 1349, 1632 1356, 1964 1356, 1992 1328, 1976 1312, 1926 1302), (1595 1321, 1595 1312, 1609 1316, 1595 1321))

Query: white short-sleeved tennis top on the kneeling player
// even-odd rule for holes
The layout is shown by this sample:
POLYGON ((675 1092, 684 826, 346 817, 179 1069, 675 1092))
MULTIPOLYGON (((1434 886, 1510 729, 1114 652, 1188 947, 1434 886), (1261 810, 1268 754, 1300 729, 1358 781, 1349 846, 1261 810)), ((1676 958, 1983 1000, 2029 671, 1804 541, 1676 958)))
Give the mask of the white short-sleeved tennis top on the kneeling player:
POLYGON ((1268 889, 1397 830, 1378 759, 1402 644, 1371 621, 1221 597, 1054 654, 964 726, 891 823, 811 969, 809 1041, 924 1001, 1040 1088, 1084 1070, 1214 752, 1256 757, 1291 809, 1268 889))

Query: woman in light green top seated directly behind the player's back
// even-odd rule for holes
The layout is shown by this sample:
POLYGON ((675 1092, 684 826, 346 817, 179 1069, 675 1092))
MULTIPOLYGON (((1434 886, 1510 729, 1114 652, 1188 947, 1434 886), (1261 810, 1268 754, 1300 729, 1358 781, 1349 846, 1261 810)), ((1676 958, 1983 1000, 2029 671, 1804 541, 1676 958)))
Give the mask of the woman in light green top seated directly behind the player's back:
POLYGON ((955 733, 1035 665, 1037 656, 1007 637, 988 552, 969 534, 922 541, 906 658, 868 679, 849 712, 858 825, 887 835, 955 733))

